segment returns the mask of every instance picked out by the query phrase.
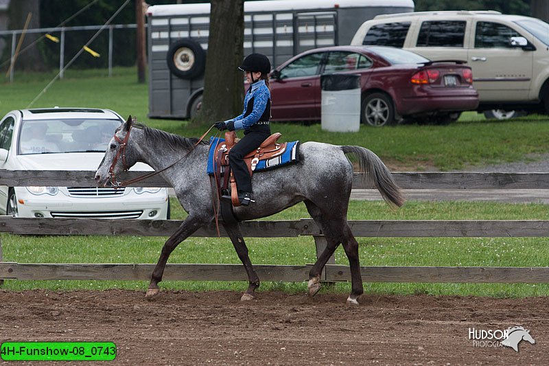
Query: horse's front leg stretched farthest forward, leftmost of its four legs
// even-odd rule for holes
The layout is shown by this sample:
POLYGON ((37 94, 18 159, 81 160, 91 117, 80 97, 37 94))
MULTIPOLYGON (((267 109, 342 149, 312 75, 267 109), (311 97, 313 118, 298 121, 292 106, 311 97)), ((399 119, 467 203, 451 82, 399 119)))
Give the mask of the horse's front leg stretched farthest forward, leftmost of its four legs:
POLYGON ((167 259, 170 258, 170 254, 172 254, 172 251, 176 249, 180 242, 183 242, 183 240, 191 236, 192 233, 200 229, 200 227, 206 225, 207 222, 208 219, 204 217, 187 216, 177 231, 173 233, 168 240, 166 240, 164 246, 162 247, 159 262, 156 263, 156 267, 154 267, 154 271, 152 271, 149 288, 145 297, 150 298, 158 295, 160 292, 159 282, 162 281, 164 268, 166 266, 167 259))

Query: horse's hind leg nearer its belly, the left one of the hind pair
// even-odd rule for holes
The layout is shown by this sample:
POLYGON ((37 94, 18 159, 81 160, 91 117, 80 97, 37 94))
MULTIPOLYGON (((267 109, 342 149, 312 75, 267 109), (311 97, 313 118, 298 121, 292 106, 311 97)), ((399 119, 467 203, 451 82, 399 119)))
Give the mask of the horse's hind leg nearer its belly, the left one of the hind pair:
POLYGON ((320 256, 312 266, 311 271, 309 271, 309 283, 307 284, 307 288, 309 289, 309 296, 314 296, 320 290, 320 275, 322 274, 322 270, 326 266, 329 258, 334 255, 340 241, 333 236, 329 236, 329 232, 325 231, 328 223, 323 220, 322 212, 317 205, 312 203, 312 201, 305 201, 305 207, 307 207, 307 211, 309 211, 314 222, 316 222, 320 229, 325 232, 326 238, 326 248, 320 253, 320 256))

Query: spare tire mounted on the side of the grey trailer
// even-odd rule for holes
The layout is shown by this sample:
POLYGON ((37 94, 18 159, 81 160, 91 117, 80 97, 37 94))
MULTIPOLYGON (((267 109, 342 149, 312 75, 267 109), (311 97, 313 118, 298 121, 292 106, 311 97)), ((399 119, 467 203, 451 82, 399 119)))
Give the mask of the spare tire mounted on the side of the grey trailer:
POLYGON ((206 52, 200 43, 181 39, 170 45, 166 55, 167 67, 178 78, 195 79, 204 73, 206 52))

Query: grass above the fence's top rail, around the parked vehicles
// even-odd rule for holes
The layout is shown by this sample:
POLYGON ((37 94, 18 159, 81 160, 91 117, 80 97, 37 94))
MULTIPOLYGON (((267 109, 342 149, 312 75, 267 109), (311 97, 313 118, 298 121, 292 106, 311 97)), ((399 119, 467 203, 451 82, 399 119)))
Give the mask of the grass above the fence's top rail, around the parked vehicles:
MULTIPOLYGON (((106 72, 69 69, 65 79, 55 82, 34 107, 111 108, 124 116, 135 115, 149 126, 186 137, 205 132, 205 127, 187 122, 148 119, 148 87, 137 84, 135 69, 115 69, 112 78, 106 78, 106 72)), ((54 75, 16 74, 16 82, 4 83, 0 88, 0 113, 25 108, 54 75)), ((537 155, 549 153, 547 122, 546 116, 494 122, 467 112, 458 123, 449 126, 362 126, 359 133, 327 133, 320 124, 273 123, 272 130, 283 133, 285 141, 299 139, 364 146, 393 170, 458 170, 471 165, 536 159, 537 155)))

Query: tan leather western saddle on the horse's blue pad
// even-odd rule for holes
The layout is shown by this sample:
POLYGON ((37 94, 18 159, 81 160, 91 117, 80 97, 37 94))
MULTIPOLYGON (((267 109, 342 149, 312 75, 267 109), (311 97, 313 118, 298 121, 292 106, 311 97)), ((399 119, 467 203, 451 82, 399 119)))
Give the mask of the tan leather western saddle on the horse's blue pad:
MULTIPOLYGON (((259 145, 259 148, 251 151, 244 157, 244 162, 248 166, 250 176, 253 174, 260 160, 272 159, 285 152, 287 143, 279 144, 277 142, 281 136, 281 133, 273 133, 259 145)), ((240 201, 238 199, 235 177, 229 166, 229 152, 238 141, 239 139, 237 139, 235 131, 228 131, 225 133, 225 142, 220 144, 215 150, 215 179, 218 181, 218 194, 220 197, 228 195, 230 182, 231 202, 235 207, 240 206, 240 201), (224 168, 223 171, 222 167, 224 168), (221 183, 222 175, 224 177, 223 183, 221 183)))

